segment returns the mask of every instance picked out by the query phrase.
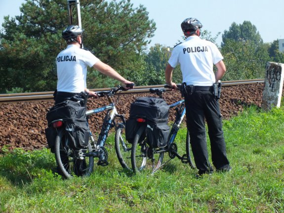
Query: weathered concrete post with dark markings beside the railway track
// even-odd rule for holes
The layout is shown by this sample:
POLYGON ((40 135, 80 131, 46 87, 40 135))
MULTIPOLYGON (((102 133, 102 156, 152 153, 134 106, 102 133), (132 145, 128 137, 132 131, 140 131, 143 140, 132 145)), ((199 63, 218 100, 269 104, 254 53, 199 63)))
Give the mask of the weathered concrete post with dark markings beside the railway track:
POLYGON ((282 75, 284 64, 267 62, 264 79, 264 90, 262 93, 261 108, 265 111, 273 107, 280 107, 284 75, 282 75))

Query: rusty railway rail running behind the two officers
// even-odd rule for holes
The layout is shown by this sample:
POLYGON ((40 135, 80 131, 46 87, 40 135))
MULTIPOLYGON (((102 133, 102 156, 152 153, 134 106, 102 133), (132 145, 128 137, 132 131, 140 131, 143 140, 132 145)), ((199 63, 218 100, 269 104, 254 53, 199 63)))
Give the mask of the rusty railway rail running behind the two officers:
MULTIPOLYGON (((222 82, 222 86, 262 84, 262 83, 264 83, 264 79, 224 81, 222 82)), ((134 89, 122 91, 121 93, 149 92, 150 88, 159 88, 159 87, 163 87, 163 85, 135 86, 134 89)), ((107 91, 109 89, 110 88, 98 88, 90 90, 107 91)), ((18 102, 18 101, 36 101, 36 100, 48 100, 48 99, 53 99, 53 91, 0 94, 0 103, 18 102)))

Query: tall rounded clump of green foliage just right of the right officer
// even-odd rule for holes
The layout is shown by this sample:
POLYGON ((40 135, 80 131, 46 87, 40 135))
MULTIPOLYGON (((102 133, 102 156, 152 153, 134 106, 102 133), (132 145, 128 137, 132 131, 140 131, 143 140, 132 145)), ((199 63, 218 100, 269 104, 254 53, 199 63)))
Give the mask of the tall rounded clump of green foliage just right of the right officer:
POLYGON ((256 27, 249 21, 235 22, 222 35, 222 55, 227 72, 222 80, 264 78, 266 62, 270 60, 267 45, 256 27))

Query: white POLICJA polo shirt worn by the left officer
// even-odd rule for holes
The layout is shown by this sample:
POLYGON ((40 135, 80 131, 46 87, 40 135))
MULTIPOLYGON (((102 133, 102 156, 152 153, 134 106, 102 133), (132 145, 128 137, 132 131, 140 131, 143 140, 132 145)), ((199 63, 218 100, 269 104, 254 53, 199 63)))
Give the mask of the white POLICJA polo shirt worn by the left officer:
POLYGON ((57 91, 80 93, 84 91, 87 66, 92 67, 99 59, 90 51, 70 44, 56 57, 57 91))

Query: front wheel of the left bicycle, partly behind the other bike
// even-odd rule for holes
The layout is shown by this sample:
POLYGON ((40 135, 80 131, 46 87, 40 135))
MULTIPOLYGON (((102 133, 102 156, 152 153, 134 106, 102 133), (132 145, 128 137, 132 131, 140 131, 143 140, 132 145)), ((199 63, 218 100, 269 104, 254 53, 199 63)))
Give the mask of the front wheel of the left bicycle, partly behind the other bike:
POLYGON ((119 159, 120 164, 123 169, 132 171, 131 169, 131 144, 128 143, 125 139, 125 126, 119 124, 116 129, 115 135, 115 147, 116 153, 119 159))

